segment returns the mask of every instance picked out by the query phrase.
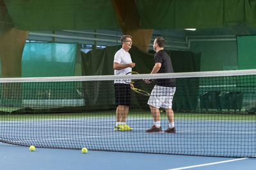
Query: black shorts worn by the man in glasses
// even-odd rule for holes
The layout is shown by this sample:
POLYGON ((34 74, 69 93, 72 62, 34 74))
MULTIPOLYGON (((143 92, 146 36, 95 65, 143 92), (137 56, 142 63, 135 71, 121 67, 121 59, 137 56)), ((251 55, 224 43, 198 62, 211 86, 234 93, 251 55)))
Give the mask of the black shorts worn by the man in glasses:
POLYGON ((124 83, 115 83, 116 105, 130 106, 131 85, 124 83))

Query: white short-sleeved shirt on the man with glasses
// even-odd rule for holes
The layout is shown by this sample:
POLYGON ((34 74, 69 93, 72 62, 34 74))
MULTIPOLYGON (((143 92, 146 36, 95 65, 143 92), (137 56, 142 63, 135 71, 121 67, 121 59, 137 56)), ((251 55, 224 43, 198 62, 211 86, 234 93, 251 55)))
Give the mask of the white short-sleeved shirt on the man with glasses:
MULTIPOLYGON (((129 64, 132 62, 131 55, 129 52, 125 52, 123 48, 118 50, 115 53, 114 62, 117 62, 119 64, 129 64)), ((127 67, 125 69, 117 70, 115 69, 115 75, 125 75, 126 73, 129 73, 132 71, 131 67, 127 67)), ((115 80, 114 83, 125 83, 129 82, 129 80, 115 80), (125 82, 126 81, 126 82, 125 82)))

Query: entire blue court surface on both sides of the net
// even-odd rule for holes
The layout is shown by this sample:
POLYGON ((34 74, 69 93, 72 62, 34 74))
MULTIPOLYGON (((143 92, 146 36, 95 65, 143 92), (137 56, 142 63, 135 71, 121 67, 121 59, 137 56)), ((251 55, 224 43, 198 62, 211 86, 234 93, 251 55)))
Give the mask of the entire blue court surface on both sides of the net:
MULTIPOLYGON (((1 121, 1 141, 16 144, 0 143, 1 169, 234 170, 256 167, 256 158, 248 158, 255 156, 255 122, 176 119, 176 134, 145 133, 152 125, 151 118, 129 118, 127 123, 134 127, 133 131, 113 131, 113 117, 1 121), (18 145, 35 145, 36 150, 30 152, 28 146, 18 145), (88 153, 81 153, 83 147, 88 148, 88 153), (243 154, 248 156, 239 156, 243 154)), ((167 124, 166 120, 162 121, 163 129, 167 124)))

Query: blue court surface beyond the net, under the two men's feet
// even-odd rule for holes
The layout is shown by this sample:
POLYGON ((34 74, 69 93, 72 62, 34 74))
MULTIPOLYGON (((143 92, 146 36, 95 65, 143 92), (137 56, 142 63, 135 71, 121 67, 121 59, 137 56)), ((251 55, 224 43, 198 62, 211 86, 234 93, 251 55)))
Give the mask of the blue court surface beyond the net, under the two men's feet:
MULTIPOLYGON (((129 118, 133 131, 113 131, 115 118, 1 121, 1 141, 43 148, 255 157, 256 124, 248 121, 179 120, 176 134, 145 133, 152 119, 129 118), (142 123, 143 122, 143 123, 142 123)), ((162 121, 162 127, 168 125, 162 121)))

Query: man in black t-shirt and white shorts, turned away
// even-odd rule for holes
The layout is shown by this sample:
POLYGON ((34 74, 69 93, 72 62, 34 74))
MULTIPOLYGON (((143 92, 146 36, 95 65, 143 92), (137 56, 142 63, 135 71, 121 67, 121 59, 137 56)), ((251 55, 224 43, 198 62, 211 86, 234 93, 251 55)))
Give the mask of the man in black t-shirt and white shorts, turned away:
MULTIPOLYGON (((157 37, 154 41, 155 66, 150 74, 156 73, 173 73, 172 61, 168 53, 164 51, 164 38, 157 37)), ((148 80, 145 80, 146 83, 148 80)), ((174 126, 174 113, 172 110, 172 100, 176 90, 176 81, 174 78, 158 79, 157 84, 152 90, 148 99, 148 105, 150 107, 152 117, 154 118, 154 125, 146 132, 162 132, 160 125, 160 111, 159 108, 164 108, 169 120, 168 129, 164 132, 175 133, 174 126)))

